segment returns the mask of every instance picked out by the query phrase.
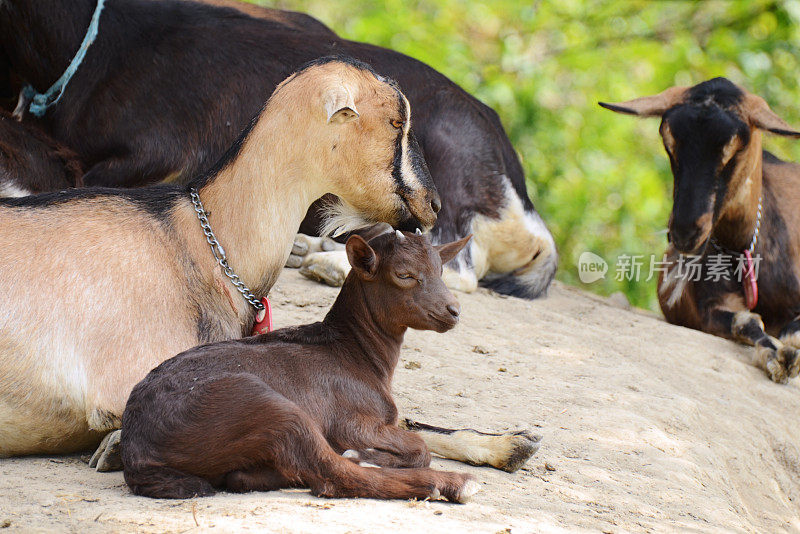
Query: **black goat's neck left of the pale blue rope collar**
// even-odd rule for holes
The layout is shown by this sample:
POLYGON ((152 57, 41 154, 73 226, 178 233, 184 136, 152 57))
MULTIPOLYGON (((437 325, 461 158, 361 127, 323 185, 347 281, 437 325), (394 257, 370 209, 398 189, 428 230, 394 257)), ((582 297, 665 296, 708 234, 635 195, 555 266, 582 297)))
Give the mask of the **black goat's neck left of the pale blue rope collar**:
POLYGON ((95 6, 94 0, 0 2, 0 45, 12 69, 39 91, 50 87, 78 51, 95 6))

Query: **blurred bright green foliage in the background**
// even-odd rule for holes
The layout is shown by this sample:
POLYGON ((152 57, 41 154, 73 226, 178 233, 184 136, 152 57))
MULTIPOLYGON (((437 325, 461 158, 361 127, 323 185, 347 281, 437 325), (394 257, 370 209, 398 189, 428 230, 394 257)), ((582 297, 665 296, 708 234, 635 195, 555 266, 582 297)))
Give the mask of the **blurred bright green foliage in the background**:
MULTIPOLYGON (((394 48, 443 72, 500 114, 531 198, 577 279, 593 251, 610 264, 588 289, 657 309, 655 282, 617 282, 621 254, 661 255, 672 177, 658 120, 603 110, 725 76, 800 126, 800 2, 278 0, 343 37, 394 48)), ((765 147, 800 161, 800 145, 765 147)))

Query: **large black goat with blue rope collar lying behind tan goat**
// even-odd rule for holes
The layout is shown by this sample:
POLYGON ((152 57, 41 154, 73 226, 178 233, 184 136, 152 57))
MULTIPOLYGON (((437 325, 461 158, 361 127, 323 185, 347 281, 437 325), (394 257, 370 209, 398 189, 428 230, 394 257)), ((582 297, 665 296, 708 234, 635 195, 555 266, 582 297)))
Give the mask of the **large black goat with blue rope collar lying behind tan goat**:
MULTIPOLYGON (((493 110, 426 65, 343 40, 311 17, 210 2, 259 18, 194 2, 106 2, 94 44, 59 103, 37 120, 80 154, 87 184, 188 181, 214 164, 290 72, 346 53, 397 79, 415 110, 414 132, 444 202, 431 238, 475 236, 450 263, 448 286, 472 291, 482 279, 502 293, 544 294, 556 271, 555 245, 493 110)), ((80 47, 95 6, 0 2, 0 50, 15 79, 40 92, 50 87, 80 47)), ((317 233, 319 222, 312 210, 301 231, 317 233)))

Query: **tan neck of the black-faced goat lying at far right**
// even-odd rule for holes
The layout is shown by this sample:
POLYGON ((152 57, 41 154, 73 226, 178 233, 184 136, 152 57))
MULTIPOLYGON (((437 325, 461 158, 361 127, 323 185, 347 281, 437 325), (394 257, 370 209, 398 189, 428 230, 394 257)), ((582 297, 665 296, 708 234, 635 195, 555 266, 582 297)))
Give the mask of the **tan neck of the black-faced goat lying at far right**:
POLYGON ((762 163, 761 132, 754 128, 750 142, 734 162, 712 234, 731 250, 746 249, 753 238, 758 201, 763 192, 762 163))

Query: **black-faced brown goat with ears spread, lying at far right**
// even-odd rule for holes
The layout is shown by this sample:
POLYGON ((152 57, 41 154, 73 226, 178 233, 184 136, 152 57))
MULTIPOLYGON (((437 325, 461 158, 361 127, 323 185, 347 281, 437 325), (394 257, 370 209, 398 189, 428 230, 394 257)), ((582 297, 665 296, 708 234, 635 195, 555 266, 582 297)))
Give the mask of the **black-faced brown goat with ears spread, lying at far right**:
POLYGON ((800 132, 762 98, 724 78, 600 105, 661 117, 675 180, 669 268, 661 273, 658 289, 664 316, 755 345, 756 365, 776 382, 797 376, 800 166, 762 150, 761 132, 789 137, 800 132), (690 274, 681 254, 699 256, 701 269, 690 274), (755 272, 746 274, 747 255, 760 257, 757 282, 755 272), (727 276, 718 276, 719 270, 714 275, 712 263, 724 267, 727 276))

